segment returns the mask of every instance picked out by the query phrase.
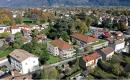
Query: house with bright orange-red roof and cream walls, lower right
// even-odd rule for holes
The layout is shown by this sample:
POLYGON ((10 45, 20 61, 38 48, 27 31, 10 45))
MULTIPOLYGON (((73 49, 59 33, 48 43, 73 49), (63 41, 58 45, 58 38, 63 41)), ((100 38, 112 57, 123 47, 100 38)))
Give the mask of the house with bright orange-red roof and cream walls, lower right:
POLYGON ((99 59, 102 59, 102 57, 97 52, 83 56, 87 68, 95 68, 99 59))

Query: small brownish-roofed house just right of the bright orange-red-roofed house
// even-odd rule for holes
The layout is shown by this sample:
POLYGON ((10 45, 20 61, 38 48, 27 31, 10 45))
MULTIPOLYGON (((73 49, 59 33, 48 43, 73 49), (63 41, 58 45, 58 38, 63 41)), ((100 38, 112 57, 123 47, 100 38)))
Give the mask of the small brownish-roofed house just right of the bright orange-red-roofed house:
POLYGON ((114 55, 114 49, 112 47, 106 47, 101 49, 102 59, 110 60, 114 55))

